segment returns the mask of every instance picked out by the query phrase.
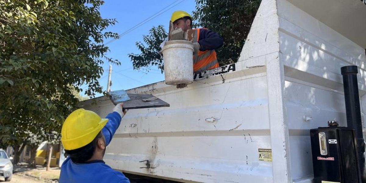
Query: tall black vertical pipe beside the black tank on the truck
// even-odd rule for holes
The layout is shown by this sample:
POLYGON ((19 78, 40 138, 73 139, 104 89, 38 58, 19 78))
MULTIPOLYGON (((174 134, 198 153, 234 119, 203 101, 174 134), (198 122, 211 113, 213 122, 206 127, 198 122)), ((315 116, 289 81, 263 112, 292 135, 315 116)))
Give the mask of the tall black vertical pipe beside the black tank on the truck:
POLYGON ((362 135, 360 99, 358 94, 357 66, 341 67, 343 75, 344 101, 346 103, 347 127, 356 131, 358 160, 361 169, 362 183, 366 183, 365 172, 365 141, 362 135))

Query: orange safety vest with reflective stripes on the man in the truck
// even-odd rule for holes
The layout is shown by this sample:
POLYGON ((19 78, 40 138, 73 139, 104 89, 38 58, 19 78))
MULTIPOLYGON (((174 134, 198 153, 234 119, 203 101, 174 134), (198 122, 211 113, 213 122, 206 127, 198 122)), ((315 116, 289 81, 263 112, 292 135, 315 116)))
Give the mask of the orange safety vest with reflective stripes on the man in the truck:
MULTIPOLYGON (((199 29, 194 29, 193 42, 198 42, 199 40, 199 29)), ((193 54, 193 72, 201 72, 205 70, 210 70, 219 67, 219 62, 217 62, 216 52, 214 49, 206 51, 198 51, 193 54)))

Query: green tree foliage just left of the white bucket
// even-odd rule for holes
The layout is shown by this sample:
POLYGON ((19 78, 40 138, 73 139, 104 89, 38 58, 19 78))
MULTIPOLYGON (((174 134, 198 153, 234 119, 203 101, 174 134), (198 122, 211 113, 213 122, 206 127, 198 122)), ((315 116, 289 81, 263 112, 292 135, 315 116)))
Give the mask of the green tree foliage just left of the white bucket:
POLYGON ((141 53, 128 54, 128 57, 132 60, 134 69, 157 66, 161 70, 161 73, 163 73, 164 64, 163 58, 160 55, 160 44, 166 37, 168 37, 168 34, 166 33, 164 26, 159 25, 150 29, 149 35, 143 36, 143 41, 146 46, 142 42, 136 42, 136 46, 141 53))

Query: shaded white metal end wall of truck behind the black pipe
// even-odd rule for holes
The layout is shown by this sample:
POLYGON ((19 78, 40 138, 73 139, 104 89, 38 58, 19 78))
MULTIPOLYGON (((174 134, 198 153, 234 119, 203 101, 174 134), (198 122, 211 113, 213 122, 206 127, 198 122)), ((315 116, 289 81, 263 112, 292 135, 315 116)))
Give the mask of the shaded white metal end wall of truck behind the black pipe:
MULTIPOLYGON (((283 55, 285 67, 285 105, 290 135, 291 172, 294 182, 311 182, 313 167, 309 129, 326 126, 328 120, 338 120, 340 126, 347 126, 340 67, 347 65, 359 67, 360 96, 364 97, 365 49, 351 41, 355 37, 361 38, 360 34, 345 37, 348 34, 343 35, 333 30, 338 29, 341 24, 353 23, 357 26, 357 21, 344 22, 337 19, 337 22, 329 22, 328 19, 329 21, 323 23, 322 21, 326 20, 314 18, 320 13, 320 8, 323 9, 324 15, 335 15, 336 12, 326 11, 327 8, 346 1, 289 1, 277 2, 280 20, 280 55, 283 55), (306 3, 308 8, 303 7, 306 3), (325 6, 325 3, 329 6, 325 6), (311 10, 310 4, 313 8, 311 10), (325 23, 332 25, 332 28, 325 23)), ((362 3, 359 4, 362 6, 344 8, 366 10, 362 3)), ((344 16, 355 12, 349 13, 344 16)), ((342 16, 341 12, 333 18, 339 16, 342 16)), ((350 27, 347 29, 355 31, 350 27)), ((358 43, 359 41, 362 42, 358 40, 358 43)), ((365 119, 365 115, 362 115, 362 118, 365 119)))

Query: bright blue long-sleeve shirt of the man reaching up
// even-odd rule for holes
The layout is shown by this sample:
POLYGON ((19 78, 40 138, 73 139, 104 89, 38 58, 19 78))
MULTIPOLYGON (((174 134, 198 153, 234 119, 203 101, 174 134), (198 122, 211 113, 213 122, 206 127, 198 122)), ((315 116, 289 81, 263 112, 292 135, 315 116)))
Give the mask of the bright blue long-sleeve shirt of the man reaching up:
MULTIPOLYGON (((106 146, 112 140, 117 128, 121 123, 122 117, 117 112, 112 112, 105 117, 108 119, 102 129, 105 137, 106 146)), ((60 183, 130 183, 122 172, 115 171, 102 160, 88 161, 86 163, 74 163, 67 157, 61 165, 60 183)))

